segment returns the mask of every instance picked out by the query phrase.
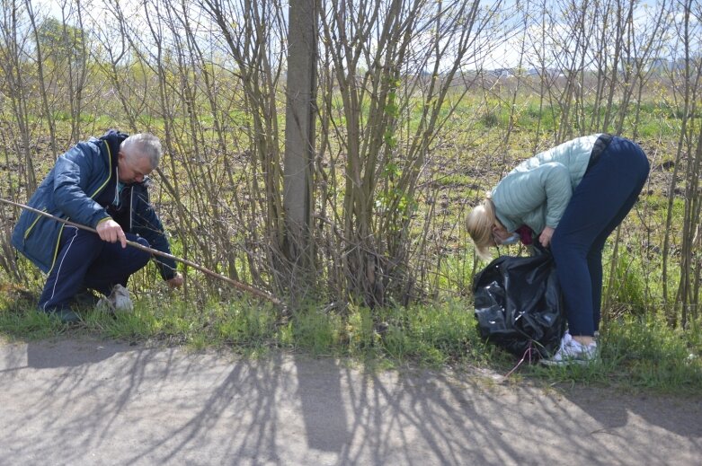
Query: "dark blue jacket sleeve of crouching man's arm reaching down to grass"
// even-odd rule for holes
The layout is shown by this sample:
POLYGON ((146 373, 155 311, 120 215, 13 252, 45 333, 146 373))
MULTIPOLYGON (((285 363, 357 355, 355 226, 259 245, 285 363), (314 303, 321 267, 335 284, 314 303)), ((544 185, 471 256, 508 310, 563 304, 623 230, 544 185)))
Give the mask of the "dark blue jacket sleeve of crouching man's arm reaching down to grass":
MULTIPOLYGON (((133 224, 131 233, 137 233, 139 236, 147 240, 152 248, 157 251, 171 254, 171 246, 168 238, 165 235, 164 225, 161 219, 156 215, 156 210, 149 202, 148 191, 146 187, 136 189, 134 195, 137 197, 134 212, 132 213, 133 224)), ((164 280, 170 280, 175 277, 177 271, 175 260, 154 256, 156 267, 161 277, 164 280)))

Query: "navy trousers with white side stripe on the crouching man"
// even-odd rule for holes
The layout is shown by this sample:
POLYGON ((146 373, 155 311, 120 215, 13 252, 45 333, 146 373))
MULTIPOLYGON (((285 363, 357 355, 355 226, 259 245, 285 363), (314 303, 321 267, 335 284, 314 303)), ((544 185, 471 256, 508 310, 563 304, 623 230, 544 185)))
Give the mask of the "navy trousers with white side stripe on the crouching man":
MULTIPOLYGON (((148 246, 147 240, 127 233, 127 239, 148 246)), ((97 233, 66 226, 58 245, 54 268, 39 299, 39 307, 52 311, 67 307, 76 293, 92 288, 110 295, 112 286, 127 286, 129 276, 147 265, 151 254, 120 242, 104 242, 97 233)))

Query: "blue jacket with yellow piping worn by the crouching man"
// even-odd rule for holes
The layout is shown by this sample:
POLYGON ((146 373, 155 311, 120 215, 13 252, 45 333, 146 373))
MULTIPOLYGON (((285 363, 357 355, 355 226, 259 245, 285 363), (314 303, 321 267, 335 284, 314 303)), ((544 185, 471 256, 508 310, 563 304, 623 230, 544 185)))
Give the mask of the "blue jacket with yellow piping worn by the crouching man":
MULTIPOLYGON (((117 156, 127 137, 111 130, 69 149, 58 157, 28 205, 93 228, 111 216, 125 232, 139 234, 152 248, 170 254, 163 224, 148 200, 146 180, 122 189, 119 208, 111 205, 117 187, 117 156)), ((63 228, 60 222, 25 210, 14 227, 12 243, 49 273, 58 255, 63 228)), ((158 256, 155 259, 161 277, 173 278, 175 262, 158 256)))

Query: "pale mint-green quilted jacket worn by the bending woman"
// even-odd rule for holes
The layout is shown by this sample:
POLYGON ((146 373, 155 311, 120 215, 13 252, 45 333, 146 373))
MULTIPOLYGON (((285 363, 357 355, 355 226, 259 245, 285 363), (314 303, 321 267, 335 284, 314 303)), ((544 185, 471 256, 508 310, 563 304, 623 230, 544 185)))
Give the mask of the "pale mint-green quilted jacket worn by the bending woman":
POLYGON ((583 136, 556 145, 520 163, 493 189, 498 220, 513 232, 526 224, 534 233, 558 226, 580 184, 600 135, 583 136))

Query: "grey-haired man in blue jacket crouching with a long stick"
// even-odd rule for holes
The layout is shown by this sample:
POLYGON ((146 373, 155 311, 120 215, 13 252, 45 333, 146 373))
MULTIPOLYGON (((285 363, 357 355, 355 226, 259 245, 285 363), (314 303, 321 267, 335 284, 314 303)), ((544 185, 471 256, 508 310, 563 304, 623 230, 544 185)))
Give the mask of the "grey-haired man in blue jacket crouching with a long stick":
MULTIPOLYGON (((161 159, 161 143, 148 133, 128 136, 108 131, 78 143, 58 157, 29 206, 50 215, 91 226, 97 234, 22 212, 13 230, 13 246, 48 273, 41 293, 41 312, 61 321, 79 318, 70 308, 87 288, 128 302, 129 276, 147 265, 151 254, 128 248, 127 240, 170 254, 163 224, 149 204, 147 176, 161 159)), ((181 286, 172 259, 154 257, 161 277, 181 286)), ((120 306, 118 306, 120 307, 120 306)))

